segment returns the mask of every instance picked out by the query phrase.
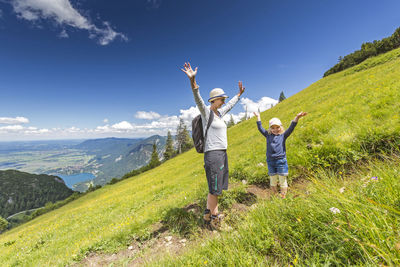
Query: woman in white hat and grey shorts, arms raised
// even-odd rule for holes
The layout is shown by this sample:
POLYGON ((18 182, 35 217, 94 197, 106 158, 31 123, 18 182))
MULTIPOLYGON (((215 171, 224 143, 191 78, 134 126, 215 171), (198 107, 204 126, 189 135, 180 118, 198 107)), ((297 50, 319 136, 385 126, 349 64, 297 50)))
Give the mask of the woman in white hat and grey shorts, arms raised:
POLYGON ((208 99, 211 106, 206 106, 200 96, 199 86, 195 79, 197 68, 193 70, 190 63, 185 63, 182 71, 186 73, 190 79, 194 100, 200 110, 204 131, 206 130, 208 119, 210 118, 210 112, 214 113, 204 147, 204 168, 206 171, 209 193, 207 197, 207 209, 204 211, 203 218, 205 222, 210 223, 212 227, 219 228, 223 215, 218 213, 218 196, 221 195, 222 190, 228 189, 229 177, 228 157, 226 154, 226 149, 228 148, 227 127, 222 118, 239 101, 245 88, 242 82, 239 81, 239 93, 223 108, 221 107, 228 96, 221 88, 214 88, 211 90, 210 98, 208 99))

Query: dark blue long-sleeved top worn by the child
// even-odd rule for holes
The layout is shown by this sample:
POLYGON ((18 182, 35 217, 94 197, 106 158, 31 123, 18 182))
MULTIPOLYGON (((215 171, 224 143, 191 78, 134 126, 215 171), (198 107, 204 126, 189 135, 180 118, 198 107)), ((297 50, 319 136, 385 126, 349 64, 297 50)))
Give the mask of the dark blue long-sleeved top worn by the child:
POLYGON ((297 122, 292 121, 290 123, 289 128, 283 134, 269 134, 267 130, 265 130, 261 121, 257 121, 258 130, 262 135, 267 139, 267 160, 274 159, 282 159, 286 158, 286 139, 293 132, 294 127, 296 127, 297 122))

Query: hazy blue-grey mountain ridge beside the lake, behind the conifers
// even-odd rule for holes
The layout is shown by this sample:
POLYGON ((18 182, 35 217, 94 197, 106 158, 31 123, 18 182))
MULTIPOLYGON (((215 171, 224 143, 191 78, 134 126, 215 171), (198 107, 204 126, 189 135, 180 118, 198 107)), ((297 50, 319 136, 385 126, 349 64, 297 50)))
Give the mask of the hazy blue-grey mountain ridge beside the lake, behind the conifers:
MULTIPOLYGON (((146 139, 105 138, 87 140, 75 148, 86 150, 95 155, 82 172, 96 175, 94 185, 104 185, 112 178, 119 178, 125 173, 138 169, 149 163, 153 143, 157 144, 160 159, 165 150, 166 137, 153 135, 146 139)), ((89 182, 74 185, 77 191, 85 191, 89 182)))

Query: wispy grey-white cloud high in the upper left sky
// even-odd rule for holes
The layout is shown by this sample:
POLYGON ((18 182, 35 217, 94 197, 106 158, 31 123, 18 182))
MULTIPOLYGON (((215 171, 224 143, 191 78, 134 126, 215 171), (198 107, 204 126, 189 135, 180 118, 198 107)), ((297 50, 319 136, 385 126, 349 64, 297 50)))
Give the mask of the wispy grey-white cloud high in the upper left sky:
MULTIPOLYGON (((109 22, 102 22, 103 27, 99 28, 89 19, 82 16, 70 3, 69 0, 11 0, 15 13, 21 19, 32 22, 40 20, 54 21, 58 27, 70 26, 89 32, 89 37, 97 39, 101 45, 107 45, 114 39, 127 41, 128 38, 114 31, 109 22)), ((59 35, 68 37, 65 29, 59 35)))

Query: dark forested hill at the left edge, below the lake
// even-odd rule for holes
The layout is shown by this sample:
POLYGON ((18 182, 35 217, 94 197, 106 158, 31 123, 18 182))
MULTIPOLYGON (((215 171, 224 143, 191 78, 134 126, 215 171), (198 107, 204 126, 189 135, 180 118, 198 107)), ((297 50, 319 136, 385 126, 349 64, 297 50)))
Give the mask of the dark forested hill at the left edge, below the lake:
POLYGON ((57 176, 30 174, 16 170, 0 171, 0 216, 43 207, 69 197, 73 191, 57 176))

